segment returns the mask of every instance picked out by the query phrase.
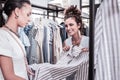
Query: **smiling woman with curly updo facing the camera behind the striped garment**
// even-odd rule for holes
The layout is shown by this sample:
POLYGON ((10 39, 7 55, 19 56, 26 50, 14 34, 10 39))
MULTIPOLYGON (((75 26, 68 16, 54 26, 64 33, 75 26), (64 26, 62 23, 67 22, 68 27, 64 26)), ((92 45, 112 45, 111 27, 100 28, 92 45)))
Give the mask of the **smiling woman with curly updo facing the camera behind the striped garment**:
POLYGON ((86 47, 82 51, 88 51, 88 37, 84 36, 84 28, 82 26, 81 12, 77 9, 77 6, 70 6, 65 10, 65 27, 67 34, 70 36, 64 41, 63 50, 68 51, 70 46, 80 46, 86 44, 86 47), (83 43, 81 41, 85 40, 83 43))

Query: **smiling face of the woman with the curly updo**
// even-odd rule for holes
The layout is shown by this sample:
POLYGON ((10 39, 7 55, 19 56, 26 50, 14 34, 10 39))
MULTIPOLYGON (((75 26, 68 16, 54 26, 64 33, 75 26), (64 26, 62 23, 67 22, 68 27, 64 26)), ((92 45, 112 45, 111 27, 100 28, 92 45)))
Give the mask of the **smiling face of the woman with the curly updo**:
POLYGON ((65 20, 65 27, 68 35, 73 36, 78 33, 80 25, 75 22, 74 18, 68 18, 65 20))

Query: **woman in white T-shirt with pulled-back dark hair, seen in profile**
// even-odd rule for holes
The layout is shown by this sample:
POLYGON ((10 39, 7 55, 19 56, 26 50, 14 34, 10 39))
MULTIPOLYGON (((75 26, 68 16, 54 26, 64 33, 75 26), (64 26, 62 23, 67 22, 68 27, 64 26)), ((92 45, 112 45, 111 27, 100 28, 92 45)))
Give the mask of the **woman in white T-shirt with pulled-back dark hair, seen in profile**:
POLYGON ((17 30, 28 24, 31 10, 29 0, 7 0, 0 10, 0 80, 28 80, 26 52, 17 30))

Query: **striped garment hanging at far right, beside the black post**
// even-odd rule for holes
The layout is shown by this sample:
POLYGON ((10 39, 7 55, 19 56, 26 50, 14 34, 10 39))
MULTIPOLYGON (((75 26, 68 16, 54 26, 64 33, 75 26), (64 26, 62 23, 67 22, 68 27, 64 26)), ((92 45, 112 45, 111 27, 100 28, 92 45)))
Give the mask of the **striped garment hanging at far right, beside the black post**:
POLYGON ((118 0, 103 0, 95 19, 95 80, 120 80, 118 0))

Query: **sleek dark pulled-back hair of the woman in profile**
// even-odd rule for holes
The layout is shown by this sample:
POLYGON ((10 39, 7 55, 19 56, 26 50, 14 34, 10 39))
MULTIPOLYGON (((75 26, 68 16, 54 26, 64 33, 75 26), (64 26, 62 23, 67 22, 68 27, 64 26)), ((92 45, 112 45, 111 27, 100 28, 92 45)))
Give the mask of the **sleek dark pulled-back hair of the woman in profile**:
POLYGON ((15 8, 21 8, 24 3, 30 4, 29 0, 7 0, 4 7, 0 10, 0 27, 5 24, 3 12, 9 17, 15 8))

